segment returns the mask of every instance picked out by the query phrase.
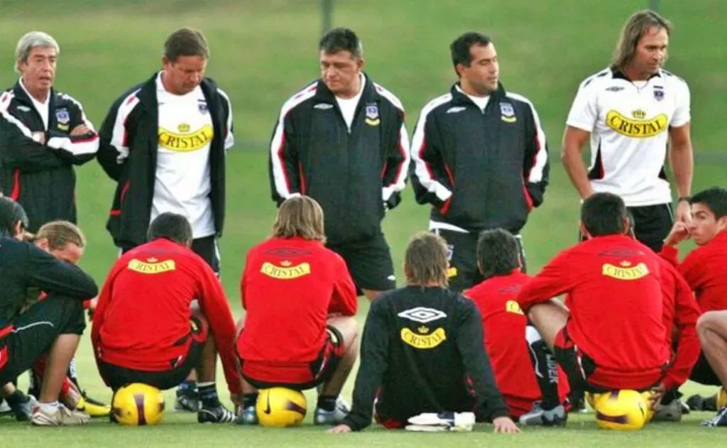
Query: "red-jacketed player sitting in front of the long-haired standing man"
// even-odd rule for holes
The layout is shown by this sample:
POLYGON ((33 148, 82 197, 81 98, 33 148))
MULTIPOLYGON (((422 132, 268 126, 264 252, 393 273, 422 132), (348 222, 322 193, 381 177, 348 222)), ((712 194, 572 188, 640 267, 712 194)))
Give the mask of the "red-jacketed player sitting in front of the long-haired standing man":
POLYGON ((583 202, 587 241, 550 260, 518 303, 555 353, 571 388, 646 391, 670 361, 658 255, 626 235, 624 201, 595 193, 583 202), (558 295, 569 294, 569 308, 558 295))

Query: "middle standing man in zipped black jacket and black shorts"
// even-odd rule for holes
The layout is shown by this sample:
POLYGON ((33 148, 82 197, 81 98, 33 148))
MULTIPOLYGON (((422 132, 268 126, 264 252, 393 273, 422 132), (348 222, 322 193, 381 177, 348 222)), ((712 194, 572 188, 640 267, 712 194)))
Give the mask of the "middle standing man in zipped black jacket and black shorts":
POLYGON ((321 79, 284 103, 273 132, 273 200, 316 199, 325 212, 328 247, 346 261, 359 294, 373 300, 395 287, 381 220, 406 186, 403 106, 362 71, 356 33, 329 31, 318 49, 321 79))

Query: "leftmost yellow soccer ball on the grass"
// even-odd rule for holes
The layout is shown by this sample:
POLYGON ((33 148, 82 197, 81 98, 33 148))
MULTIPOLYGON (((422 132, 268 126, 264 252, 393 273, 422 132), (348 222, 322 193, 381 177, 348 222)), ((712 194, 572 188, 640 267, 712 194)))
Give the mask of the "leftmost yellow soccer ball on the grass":
POLYGON ((147 384, 125 385, 113 394, 111 415, 121 425, 157 425, 164 418, 164 395, 147 384))

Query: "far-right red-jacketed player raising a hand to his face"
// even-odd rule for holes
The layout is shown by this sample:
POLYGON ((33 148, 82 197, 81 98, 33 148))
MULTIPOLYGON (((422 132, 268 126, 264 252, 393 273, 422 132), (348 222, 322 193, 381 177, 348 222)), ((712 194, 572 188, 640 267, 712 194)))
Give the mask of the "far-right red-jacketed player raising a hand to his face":
MULTIPOLYGON (((702 313, 727 310, 727 189, 707 188, 689 198, 691 223, 676 223, 664 240, 662 257, 677 266, 696 295, 702 313), (696 249, 679 263, 677 246, 692 239, 696 249)), ((708 322, 710 319, 705 319, 708 322)), ((702 324, 709 327, 709 324, 702 324)), ((697 327, 698 332, 703 332, 697 327)), ((705 354, 699 356, 690 380, 704 385, 722 385, 705 354)), ((716 396, 691 396, 689 406, 698 410, 716 410, 716 396)))

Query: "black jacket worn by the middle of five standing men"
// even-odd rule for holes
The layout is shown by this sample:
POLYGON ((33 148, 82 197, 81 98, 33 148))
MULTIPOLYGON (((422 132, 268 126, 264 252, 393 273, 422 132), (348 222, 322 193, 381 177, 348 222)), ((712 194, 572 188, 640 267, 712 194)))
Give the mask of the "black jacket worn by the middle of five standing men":
POLYGON ((386 209, 401 201, 409 138, 401 101, 366 76, 350 129, 334 94, 318 80, 283 105, 270 143, 270 188, 281 204, 316 199, 331 243, 381 232, 386 209))

